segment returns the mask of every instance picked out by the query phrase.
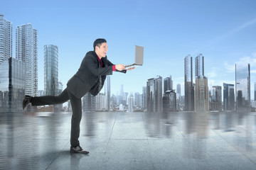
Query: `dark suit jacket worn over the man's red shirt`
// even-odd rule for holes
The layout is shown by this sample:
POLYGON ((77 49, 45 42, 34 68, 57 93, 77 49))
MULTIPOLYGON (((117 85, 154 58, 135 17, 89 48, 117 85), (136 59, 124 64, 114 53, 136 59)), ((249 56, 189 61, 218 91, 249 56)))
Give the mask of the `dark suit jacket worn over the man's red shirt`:
MULTIPOLYGON (((96 96, 102 89, 107 75, 112 75, 112 65, 114 65, 107 60, 107 56, 102 57, 102 61, 105 67, 101 67, 95 51, 87 52, 78 72, 68 81, 68 91, 77 98, 82 98, 88 91, 96 96)), ((126 73, 126 70, 121 72, 126 73)))

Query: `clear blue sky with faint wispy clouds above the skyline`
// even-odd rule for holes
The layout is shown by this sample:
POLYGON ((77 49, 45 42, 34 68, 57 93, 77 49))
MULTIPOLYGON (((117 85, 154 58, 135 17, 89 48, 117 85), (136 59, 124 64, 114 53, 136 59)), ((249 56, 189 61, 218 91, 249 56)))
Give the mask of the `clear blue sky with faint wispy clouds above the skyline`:
MULTIPOLYGON (((114 72, 111 93, 142 94, 147 79, 171 75, 183 94, 184 57, 203 54, 208 86, 235 84, 235 64, 250 63, 251 98, 256 82, 256 1, 18 1, 0 2, 0 13, 16 26, 38 30, 38 90, 43 90, 43 46, 58 46, 58 78, 65 88, 97 38, 107 40, 114 64, 132 64, 135 45, 144 64, 114 72)), ((193 60, 194 61, 194 60, 193 60)), ((193 73, 194 74, 194 73, 193 73)))

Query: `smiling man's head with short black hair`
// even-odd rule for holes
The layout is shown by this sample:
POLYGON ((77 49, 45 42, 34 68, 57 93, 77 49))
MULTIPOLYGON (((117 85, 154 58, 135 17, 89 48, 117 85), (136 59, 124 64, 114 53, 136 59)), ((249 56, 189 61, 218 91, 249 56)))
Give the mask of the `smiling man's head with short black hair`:
POLYGON ((106 57, 107 54, 107 40, 103 38, 98 38, 93 42, 93 48, 100 59, 106 57))

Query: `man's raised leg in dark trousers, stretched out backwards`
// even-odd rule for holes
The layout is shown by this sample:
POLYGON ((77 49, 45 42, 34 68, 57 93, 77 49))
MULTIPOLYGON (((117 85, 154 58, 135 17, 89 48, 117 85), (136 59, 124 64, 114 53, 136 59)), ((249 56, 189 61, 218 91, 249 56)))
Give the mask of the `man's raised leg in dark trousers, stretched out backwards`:
POLYGON ((60 104, 68 101, 68 91, 65 89, 59 96, 41 96, 41 97, 31 97, 32 106, 43 106, 60 104))

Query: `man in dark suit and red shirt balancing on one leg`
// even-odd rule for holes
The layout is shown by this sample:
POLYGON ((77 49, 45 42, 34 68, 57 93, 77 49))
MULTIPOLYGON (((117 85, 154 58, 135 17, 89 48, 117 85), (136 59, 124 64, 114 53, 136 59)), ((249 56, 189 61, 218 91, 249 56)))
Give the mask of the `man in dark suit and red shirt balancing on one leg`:
MULTIPOLYGON (((42 106, 60 104, 70 100, 73 115, 71 120, 70 152, 89 154, 80 147, 80 120, 82 118, 82 96, 89 91, 96 96, 107 75, 112 75, 113 71, 126 73, 124 64, 114 65, 107 60, 107 40, 99 38, 93 43, 94 51, 87 52, 78 72, 68 81, 67 88, 59 96, 25 96, 23 99, 23 109, 29 103, 32 106, 42 106)), ((131 70, 131 69, 129 69, 131 70)))

